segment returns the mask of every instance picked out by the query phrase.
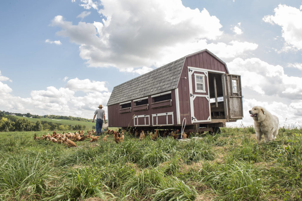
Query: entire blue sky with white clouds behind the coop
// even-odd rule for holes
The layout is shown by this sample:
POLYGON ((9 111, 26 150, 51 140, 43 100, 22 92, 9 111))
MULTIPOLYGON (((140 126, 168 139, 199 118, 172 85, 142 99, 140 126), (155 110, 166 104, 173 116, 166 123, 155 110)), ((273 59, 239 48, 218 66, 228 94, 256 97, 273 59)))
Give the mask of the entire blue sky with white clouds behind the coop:
POLYGON ((242 76, 243 125, 261 105, 300 126, 301 10, 294 0, 1 1, 0 110, 92 118, 114 86, 208 49, 242 76))

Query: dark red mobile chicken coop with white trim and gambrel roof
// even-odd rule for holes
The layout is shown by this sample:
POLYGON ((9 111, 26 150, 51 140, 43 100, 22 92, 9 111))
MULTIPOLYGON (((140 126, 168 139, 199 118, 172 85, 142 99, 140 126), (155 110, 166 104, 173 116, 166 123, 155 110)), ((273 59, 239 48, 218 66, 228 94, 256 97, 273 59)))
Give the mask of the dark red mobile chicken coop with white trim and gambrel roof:
POLYGON ((204 49, 115 86, 107 106, 111 127, 215 132, 243 118, 241 79, 204 49))

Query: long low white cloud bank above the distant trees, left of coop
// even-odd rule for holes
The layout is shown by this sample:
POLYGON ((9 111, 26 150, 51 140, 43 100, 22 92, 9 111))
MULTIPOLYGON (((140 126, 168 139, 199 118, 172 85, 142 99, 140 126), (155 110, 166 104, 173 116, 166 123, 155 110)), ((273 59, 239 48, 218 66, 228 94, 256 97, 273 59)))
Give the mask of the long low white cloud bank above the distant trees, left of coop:
MULTIPOLYGON (((78 78, 72 80, 82 83, 82 85, 74 85, 76 88, 74 90, 81 90, 81 87, 85 84, 92 86, 89 90, 93 90, 96 85, 99 85, 102 90, 86 93, 83 96, 76 96, 75 91, 67 87, 55 88, 50 86, 46 90, 33 90, 31 91, 31 97, 22 98, 12 95, 12 89, 0 81, 0 105, 3 106, 2 110, 10 112, 70 115, 91 119, 99 104, 107 104, 111 93, 108 92, 104 83, 89 81, 88 79, 79 80, 78 78), (104 92, 101 93, 99 91, 104 92)), ((107 116, 107 107, 103 109, 107 116)))

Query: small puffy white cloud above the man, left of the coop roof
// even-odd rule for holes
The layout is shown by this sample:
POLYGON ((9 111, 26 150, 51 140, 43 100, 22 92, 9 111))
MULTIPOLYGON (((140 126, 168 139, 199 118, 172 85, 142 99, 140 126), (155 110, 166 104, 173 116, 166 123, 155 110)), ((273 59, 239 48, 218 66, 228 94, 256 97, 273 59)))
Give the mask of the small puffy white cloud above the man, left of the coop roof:
POLYGON ((104 81, 90 81, 89 79, 80 80, 78 78, 70 79, 67 81, 66 88, 72 91, 83 91, 94 92, 94 91, 106 91, 108 88, 105 87, 106 82, 104 81))

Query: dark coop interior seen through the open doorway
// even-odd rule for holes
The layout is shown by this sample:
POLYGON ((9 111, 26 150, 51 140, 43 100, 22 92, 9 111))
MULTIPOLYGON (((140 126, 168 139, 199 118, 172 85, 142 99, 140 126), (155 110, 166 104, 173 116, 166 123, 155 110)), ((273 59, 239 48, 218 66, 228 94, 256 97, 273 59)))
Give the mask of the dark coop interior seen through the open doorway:
POLYGON ((209 73, 209 92, 212 119, 225 119, 222 75, 209 73))

